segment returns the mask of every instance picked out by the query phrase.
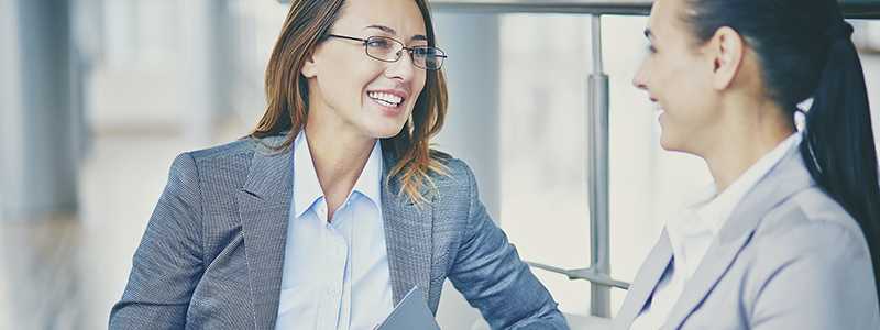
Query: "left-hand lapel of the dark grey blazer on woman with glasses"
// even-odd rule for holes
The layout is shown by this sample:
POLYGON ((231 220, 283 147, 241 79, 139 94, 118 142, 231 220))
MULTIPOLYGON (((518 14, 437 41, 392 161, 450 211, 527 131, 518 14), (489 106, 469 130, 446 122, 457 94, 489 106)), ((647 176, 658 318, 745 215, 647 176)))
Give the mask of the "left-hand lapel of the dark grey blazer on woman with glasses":
POLYGON ((255 328, 275 327, 293 194, 292 151, 257 144, 248 182, 238 193, 255 328))

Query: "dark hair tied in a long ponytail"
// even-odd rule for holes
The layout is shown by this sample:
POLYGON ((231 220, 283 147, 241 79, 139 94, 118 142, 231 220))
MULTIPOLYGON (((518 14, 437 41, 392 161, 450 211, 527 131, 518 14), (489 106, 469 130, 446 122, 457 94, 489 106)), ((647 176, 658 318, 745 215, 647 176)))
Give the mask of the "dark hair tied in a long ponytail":
POLYGON ((853 26, 834 0, 689 0, 700 42, 737 31, 760 62, 768 97, 794 116, 813 97, 800 148, 813 179, 861 227, 880 294, 880 182, 853 26))

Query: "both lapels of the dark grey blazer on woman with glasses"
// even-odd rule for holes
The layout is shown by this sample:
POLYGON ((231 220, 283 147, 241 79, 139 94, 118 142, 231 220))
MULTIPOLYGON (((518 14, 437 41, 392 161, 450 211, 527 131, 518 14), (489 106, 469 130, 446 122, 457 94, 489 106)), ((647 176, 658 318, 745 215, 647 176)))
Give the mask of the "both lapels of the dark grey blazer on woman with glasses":
MULTIPOLYGON (((254 141, 248 180, 238 193, 257 329, 274 328, 278 316, 295 170, 293 148, 272 148, 284 139, 279 135, 254 141)), ((394 302, 399 302, 414 286, 430 297, 433 196, 428 194, 429 202, 415 205, 400 194, 397 180, 385 180, 396 160, 386 152, 382 163, 382 212, 394 302)))

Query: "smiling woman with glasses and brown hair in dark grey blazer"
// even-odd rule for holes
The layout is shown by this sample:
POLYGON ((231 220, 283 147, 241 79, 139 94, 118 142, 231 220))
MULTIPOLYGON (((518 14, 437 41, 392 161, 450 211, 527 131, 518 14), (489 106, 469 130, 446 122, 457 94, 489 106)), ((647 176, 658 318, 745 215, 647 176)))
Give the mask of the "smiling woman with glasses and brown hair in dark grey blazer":
POLYGON ((494 329, 564 329, 481 204, 429 148, 447 89, 422 0, 293 1, 246 139, 182 154, 113 329, 372 329, 446 278, 494 329))

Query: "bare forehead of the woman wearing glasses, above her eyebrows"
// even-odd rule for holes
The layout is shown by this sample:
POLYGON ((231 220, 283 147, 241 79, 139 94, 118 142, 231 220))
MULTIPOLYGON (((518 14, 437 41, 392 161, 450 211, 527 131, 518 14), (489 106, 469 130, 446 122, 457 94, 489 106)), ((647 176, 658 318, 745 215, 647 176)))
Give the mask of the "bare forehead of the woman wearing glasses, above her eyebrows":
POLYGON ((371 25, 391 28, 396 36, 405 38, 426 34, 425 20, 414 0, 346 0, 336 22, 340 31, 349 33, 360 33, 371 25))

